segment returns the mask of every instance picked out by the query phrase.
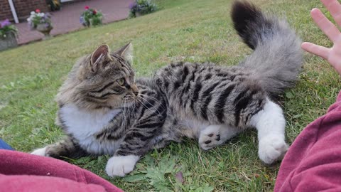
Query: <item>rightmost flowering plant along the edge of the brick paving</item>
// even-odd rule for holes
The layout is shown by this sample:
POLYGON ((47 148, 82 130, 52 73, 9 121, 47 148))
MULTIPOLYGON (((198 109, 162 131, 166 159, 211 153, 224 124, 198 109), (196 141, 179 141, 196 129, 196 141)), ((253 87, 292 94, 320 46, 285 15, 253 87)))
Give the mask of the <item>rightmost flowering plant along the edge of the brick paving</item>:
POLYGON ((150 14, 157 10, 156 4, 151 0, 136 0, 129 5, 129 17, 137 17, 150 14))

